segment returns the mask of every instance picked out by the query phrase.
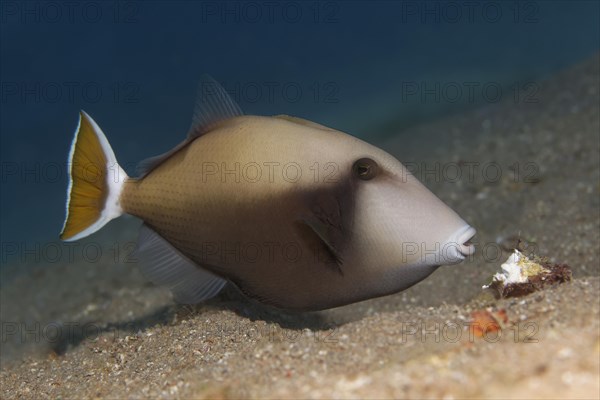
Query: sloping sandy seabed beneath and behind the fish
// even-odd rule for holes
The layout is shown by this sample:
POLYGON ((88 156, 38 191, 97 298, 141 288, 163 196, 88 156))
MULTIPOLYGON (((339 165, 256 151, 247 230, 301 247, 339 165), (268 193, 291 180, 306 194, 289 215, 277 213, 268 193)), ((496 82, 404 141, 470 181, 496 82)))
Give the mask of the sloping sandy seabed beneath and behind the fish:
POLYGON ((4 268, 0 397, 600 398, 599 71, 596 55, 536 84, 533 102, 380 143, 477 228, 480 250, 393 296, 287 313, 228 288, 178 306, 128 262, 133 219, 82 242, 102 243, 93 263, 4 268), (516 238, 573 281, 483 291, 516 238), (476 337, 471 314, 486 308, 507 322, 476 337))

